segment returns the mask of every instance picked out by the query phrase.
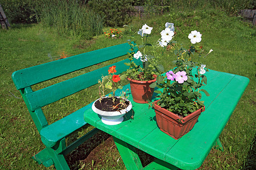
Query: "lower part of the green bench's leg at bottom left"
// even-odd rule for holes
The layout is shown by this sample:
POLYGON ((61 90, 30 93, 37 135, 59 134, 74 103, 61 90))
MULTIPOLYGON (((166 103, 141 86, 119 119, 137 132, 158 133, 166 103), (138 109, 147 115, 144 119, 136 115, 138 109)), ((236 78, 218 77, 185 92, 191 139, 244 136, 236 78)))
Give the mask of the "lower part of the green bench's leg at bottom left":
POLYGON ((45 167, 55 165, 56 169, 69 169, 68 164, 62 154, 56 154, 52 148, 45 148, 38 154, 32 157, 39 164, 43 164, 45 167))

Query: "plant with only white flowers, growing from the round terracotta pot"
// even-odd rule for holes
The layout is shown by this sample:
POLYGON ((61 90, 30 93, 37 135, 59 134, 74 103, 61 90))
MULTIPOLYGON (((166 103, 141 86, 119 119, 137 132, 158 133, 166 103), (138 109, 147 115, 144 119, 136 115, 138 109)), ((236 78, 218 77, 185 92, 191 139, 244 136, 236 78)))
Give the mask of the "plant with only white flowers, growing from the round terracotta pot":
MULTIPOLYGON (((163 46, 163 44, 166 42, 162 42, 159 39, 158 41, 156 41, 155 44, 148 43, 148 37, 150 37, 153 28, 149 27, 147 24, 144 24, 138 32, 132 31, 132 25, 128 27, 129 32, 131 33, 130 40, 128 41, 131 46, 132 53, 129 54, 130 62, 125 63, 127 66, 129 66, 129 69, 126 71, 126 76, 133 80, 152 80, 154 79, 154 74, 160 75, 164 72, 163 65, 159 64, 160 57, 163 56, 164 49, 162 49, 162 52, 159 52, 159 50, 157 49, 160 46, 163 46), (132 39, 137 33, 141 36, 142 44, 140 45, 134 45, 132 43, 132 39), (138 52, 133 52, 136 49, 138 49, 138 52), (141 61, 143 62, 143 67, 138 66, 133 61, 134 59, 141 59, 141 61)), ((170 23, 166 23, 166 28, 172 29, 170 23)), ((171 40, 173 35, 171 34, 171 32, 165 30, 163 30, 160 34, 162 35, 162 37, 165 37, 165 39, 171 40)))

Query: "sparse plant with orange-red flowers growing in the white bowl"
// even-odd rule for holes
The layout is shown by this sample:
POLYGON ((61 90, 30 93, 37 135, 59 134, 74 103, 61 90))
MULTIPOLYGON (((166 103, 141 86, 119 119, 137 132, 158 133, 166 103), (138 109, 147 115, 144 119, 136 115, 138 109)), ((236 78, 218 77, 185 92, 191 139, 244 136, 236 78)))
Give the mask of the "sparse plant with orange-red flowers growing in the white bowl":
MULTIPOLYGON (((99 94, 100 94, 100 102, 103 97, 105 97, 105 90, 109 89, 112 90, 113 95, 109 94, 109 97, 112 97, 113 104, 115 103, 116 97, 115 91, 119 88, 122 89, 121 86, 121 79, 125 79, 124 76, 115 75, 117 70, 115 70, 115 66, 109 67, 109 75, 102 76, 102 80, 98 80, 98 83, 100 83, 100 86, 98 88, 99 94)), ((123 108, 126 108, 125 100, 123 100, 123 97, 125 97, 126 92, 122 92, 121 96, 119 97, 121 100, 119 101, 118 105, 122 105, 123 108)), ((117 107, 117 105, 115 105, 117 107)), ((120 106, 118 108, 121 108, 120 106)), ((113 108, 115 109, 115 108, 113 108)))

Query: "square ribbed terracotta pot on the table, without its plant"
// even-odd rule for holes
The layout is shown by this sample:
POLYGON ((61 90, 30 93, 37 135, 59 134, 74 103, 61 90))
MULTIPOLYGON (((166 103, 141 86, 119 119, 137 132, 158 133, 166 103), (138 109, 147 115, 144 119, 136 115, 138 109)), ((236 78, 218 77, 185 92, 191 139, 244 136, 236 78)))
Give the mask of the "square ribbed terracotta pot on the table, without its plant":
POLYGON ((201 112, 204 112, 205 110, 205 107, 203 109, 200 108, 184 117, 184 121, 179 122, 180 117, 157 105, 158 101, 159 100, 154 102, 156 122, 161 131, 170 135, 174 139, 179 139, 183 135, 187 134, 196 124, 201 112))

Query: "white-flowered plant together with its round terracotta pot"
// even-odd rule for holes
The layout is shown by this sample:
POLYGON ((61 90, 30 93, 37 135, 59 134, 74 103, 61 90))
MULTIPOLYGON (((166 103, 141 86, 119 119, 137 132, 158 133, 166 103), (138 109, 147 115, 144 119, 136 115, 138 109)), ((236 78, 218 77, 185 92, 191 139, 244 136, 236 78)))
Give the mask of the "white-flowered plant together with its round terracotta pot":
MULTIPOLYGON (((130 62, 125 63, 129 66, 129 69, 126 71, 126 76, 127 79, 130 80, 133 100, 136 103, 148 103, 151 101, 151 97, 154 93, 154 88, 150 87, 150 84, 156 82, 156 76, 164 73, 163 65, 159 64, 160 57, 163 55, 163 49, 162 53, 157 52, 157 48, 162 46, 162 44, 159 44, 160 39, 155 44, 148 42, 148 37, 153 28, 149 27, 147 24, 144 24, 142 29, 139 29, 138 32, 132 31, 133 26, 128 27, 131 33, 129 40, 131 53, 129 53, 130 62), (142 43, 140 45, 135 45, 131 41, 137 33, 141 36, 142 43), (137 49, 138 52, 135 53, 134 50, 137 49), (138 66, 133 61, 134 59, 141 59, 143 67, 138 66)), ((166 28, 172 29, 170 28, 170 23, 166 23, 166 28)), ((168 33, 165 35, 166 39, 171 40, 173 35, 168 33)))

